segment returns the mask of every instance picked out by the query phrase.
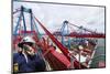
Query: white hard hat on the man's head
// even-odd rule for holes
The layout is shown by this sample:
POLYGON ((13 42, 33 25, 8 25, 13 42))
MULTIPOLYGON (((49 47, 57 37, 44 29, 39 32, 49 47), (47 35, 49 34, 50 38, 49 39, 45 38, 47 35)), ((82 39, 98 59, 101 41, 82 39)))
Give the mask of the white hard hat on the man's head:
POLYGON ((23 47, 23 44, 33 45, 35 41, 32 36, 24 36, 21 42, 18 44, 19 47, 23 47))

